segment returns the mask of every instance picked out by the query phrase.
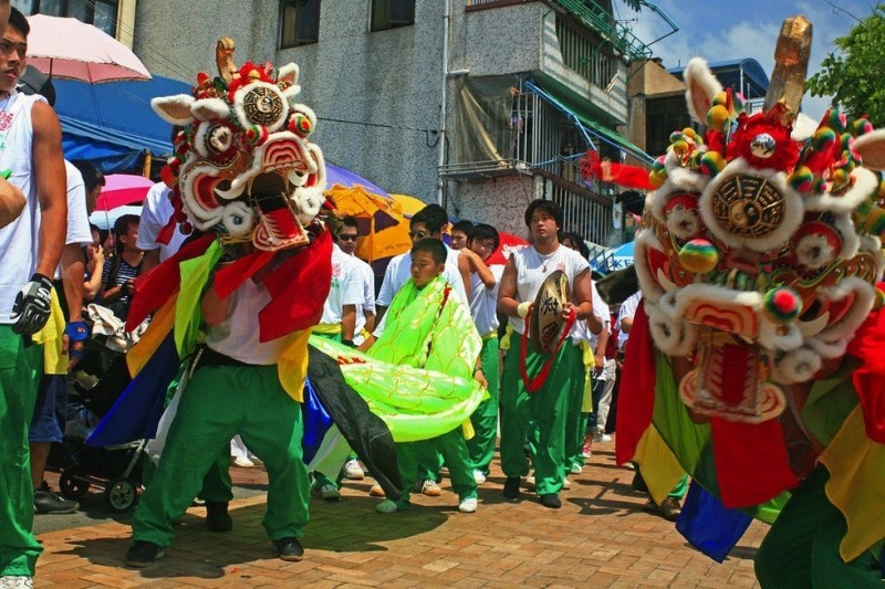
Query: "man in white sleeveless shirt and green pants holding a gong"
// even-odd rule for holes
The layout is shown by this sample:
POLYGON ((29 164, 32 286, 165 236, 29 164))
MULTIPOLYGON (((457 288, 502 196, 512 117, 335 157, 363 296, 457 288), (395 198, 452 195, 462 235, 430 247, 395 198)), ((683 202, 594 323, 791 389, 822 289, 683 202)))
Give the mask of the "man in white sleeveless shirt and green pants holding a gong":
POLYGON ((498 293, 498 311, 509 317, 513 329, 501 380, 501 467, 507 475, 503 496, 511 501, 519 498, 520 477, 529 473, 523 448, 532 427, 535 488, 541 505, 559 508, 564 480, 565 414, 573 371, 568 366, 566 346, 561 347, 555 357, 549 357, 528 343, 523 345, 522 334, 529 328, 524 317, 541 284, 556 270, 565 273, 572 292, 572 301, 564 304, 563 314, 573 314, 575 320, 591 318, 590 264, 581 254, 560 243, 562 210, 555 202, 532 201, 524 220, 533 244, 510 256, 498 293), (521 367, 523 361, 524 367, 521 367), (530 378, 541 379, 545 365, 549 372, 543 385, 529 393, 522 369, 530 378))

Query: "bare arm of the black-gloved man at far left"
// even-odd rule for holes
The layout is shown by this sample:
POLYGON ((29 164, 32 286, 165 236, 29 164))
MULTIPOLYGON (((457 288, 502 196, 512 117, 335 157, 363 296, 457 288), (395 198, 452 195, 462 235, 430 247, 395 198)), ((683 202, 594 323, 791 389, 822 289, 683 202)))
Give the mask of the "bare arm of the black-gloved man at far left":
POLYGON ((62 127, 55 111, 45 103, 34 103, 31 118, 34 177, 42 214, 37 273, 53 276, 67 234, 67 175, 62 156, 62 127))

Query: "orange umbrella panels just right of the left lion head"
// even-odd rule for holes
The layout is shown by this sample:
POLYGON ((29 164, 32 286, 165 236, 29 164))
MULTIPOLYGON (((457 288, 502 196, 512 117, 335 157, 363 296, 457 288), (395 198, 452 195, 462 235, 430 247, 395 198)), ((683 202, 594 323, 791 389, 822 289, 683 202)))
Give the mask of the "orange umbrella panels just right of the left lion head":
POLYGON ((343 215, 365 223, 360 231, 363 236, 356 242, 356 255, 372 264, 376 272, 383 270, 391 257, 412 248, 408 221, 391 198, 369 192, 360 185, 352 188, 335 185, 325 196, 343 215))

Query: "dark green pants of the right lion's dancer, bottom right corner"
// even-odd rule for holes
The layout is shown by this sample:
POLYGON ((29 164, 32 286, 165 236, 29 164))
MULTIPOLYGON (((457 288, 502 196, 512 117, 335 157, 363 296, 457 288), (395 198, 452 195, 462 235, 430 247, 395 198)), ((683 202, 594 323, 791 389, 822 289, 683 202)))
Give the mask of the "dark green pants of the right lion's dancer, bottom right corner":
POLYGON ((882 543, 875 556, 851 562, 839 556, 845 517, 826 498, 830 473, 818 469, 795 491, 756 553, 756 576, 764 588, 883 587, 882 543))

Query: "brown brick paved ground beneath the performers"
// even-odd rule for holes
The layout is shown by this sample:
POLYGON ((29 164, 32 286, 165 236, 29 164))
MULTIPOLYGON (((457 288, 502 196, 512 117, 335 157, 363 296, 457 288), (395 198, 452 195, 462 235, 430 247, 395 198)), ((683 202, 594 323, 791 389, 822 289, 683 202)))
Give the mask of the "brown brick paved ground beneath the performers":
MULTIPOLYGON (((476 514, 460 514, 444 482, 441 497, 418 496, 406 513, 382 515, 371 481, 347 482, 342 502, 311 503, 302 562, 274 557, 261 527, 267 474, 232 469, 233 532, 212 534, 202 509, 185 516, 166 556, 147 569, 123 568, 131 515, 111 515, 101 496, 86 515, 37 516, 45 546, 37 587, 753 587, 752 556, 766 529, 753 524, 718 565, 688 547, 673 524, 642 511, 633 473, 615 466, 614 444, 597 444, 590 467, 573 475, 563 507, 532 495, 500 497, 494 470, 476 514), (61 529, 59 529, 61 528, 61 529)), ((497 463, 496 463, 497 466, 497 463)))

